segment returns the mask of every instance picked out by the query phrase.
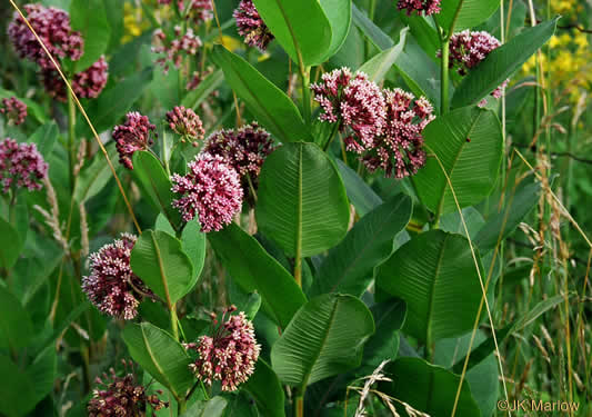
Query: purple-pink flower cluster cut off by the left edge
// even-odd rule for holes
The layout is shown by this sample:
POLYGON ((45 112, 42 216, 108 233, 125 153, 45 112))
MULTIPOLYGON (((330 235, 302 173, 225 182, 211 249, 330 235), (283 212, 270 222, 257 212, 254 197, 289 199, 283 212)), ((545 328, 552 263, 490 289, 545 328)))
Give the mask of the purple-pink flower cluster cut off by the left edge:
POLYGON ((40 190, 48 175, 48 165, 34 143, 17 143, 14 139, 0 141, 0 183, 2 192, 27 188, 40 190))

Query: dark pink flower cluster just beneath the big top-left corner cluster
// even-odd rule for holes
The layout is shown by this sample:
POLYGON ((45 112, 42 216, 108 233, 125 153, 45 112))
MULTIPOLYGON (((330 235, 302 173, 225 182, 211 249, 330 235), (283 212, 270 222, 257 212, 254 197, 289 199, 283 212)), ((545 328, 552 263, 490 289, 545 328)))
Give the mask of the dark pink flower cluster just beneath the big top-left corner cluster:
MULTIPOLYGON (((109 78, 109 64, 104 57, 99 58, 97 62, 87 68, 84 71, 74 75, 71 81, 72 89, 76 95, 86 99, 94 99, 99 97, 107 79, 109 78)), ((46 91, 59 101, 66 101, 68 98, 68 90, 63 83, 60 75, 56 70, 44 70, 41 72, 46 91)))

